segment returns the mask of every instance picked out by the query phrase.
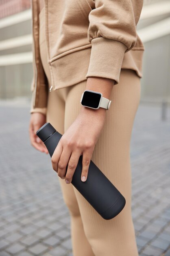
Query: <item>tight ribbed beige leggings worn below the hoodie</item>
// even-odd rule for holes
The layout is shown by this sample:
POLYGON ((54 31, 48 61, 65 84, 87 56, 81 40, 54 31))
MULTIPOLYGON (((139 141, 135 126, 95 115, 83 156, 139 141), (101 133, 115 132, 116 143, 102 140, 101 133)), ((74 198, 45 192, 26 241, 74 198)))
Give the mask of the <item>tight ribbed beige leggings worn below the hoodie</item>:
MULTIPOLYGON (((49 81, 50 72, 44 40, 44 21, 40 13, 41 60, 49 81)), ((80 98, 86 80, 49 92, 47 122, 63 134, 81 110, 80 98)), ((104 220, 76 188, 58 175, 63 199, 71 216, 74 256, 138 256, 131 216, 130 141, 133 121, 140 99, 140 79, 133 70, 121 70, 120 83, 114 85, 112 103, 97 141, 92 161, 124 195, 124 209, 111 220, 104 220)))

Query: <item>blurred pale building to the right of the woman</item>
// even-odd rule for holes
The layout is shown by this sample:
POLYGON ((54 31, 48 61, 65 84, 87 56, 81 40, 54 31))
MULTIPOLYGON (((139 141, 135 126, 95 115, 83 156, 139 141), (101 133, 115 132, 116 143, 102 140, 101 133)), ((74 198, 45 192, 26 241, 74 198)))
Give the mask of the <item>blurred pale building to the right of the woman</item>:
POLYGON ((170 102, 170 0, 145 0, 137 31, 145 46, 141 98, 170 102))

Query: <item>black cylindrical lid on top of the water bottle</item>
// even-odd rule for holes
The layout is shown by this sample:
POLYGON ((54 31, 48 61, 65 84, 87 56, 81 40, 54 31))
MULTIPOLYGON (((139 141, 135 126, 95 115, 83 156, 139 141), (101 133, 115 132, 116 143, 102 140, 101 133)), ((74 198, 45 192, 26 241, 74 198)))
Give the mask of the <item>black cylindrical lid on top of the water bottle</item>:
POLYGON ((46 141, 54 132, 56 132, 56 129, 50 124, 46 123, 39 130, 37 130, 36 135, 41 139, 43 142, 46 141))

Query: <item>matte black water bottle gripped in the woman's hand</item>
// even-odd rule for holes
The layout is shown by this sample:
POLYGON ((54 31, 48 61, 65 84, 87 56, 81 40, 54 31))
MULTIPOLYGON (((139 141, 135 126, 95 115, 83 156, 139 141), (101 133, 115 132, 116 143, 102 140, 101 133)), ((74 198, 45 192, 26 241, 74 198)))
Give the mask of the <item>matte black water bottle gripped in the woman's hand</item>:
MULTIPOLYGON (((50 157, 52 157, 62 135, 50 123, 41 126, 36 134, 44 142, 50 157)), ((71 183, 102 218, 110 220, 122 211, 126 200, 92 160, 89 164, 87 180, 81 181, 82 157, 83 155, 78 160, 71 183)))

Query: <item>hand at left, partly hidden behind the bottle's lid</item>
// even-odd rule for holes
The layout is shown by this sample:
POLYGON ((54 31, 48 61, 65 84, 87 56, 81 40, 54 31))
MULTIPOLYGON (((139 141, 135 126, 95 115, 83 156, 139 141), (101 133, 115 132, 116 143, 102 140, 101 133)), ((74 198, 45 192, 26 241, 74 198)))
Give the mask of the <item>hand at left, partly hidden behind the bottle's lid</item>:
POLYGON ((39 112, 31 114, 30 125, 29 125, 29 135, 31 145, 41 152, 48 154, 48 150, 44 143, 36 135, 37 130, 46 123, 46 115, 39 112))

